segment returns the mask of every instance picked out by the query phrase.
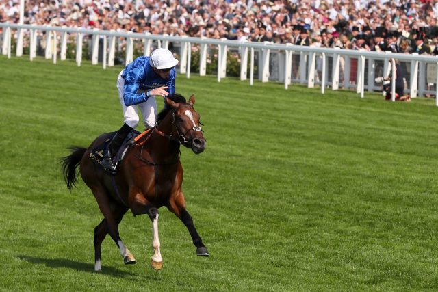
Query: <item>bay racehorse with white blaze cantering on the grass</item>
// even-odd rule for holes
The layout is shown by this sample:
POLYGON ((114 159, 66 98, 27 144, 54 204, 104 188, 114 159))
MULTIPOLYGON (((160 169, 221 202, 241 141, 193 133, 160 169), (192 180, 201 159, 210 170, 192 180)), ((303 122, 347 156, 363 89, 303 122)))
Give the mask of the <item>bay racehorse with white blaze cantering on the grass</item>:
POLYGON ((166 106, 157 116, 157 125, 135 144, 129 146, 118 165, 115 175, 103 170, 92 160, 92 150, 108 140, 105 133, 94 140, 88 149, 72 146, 71 154, 61 160, 64 181, 71 191, 77 183, 77 166, 86 185, 96 198, 103 220, 94 228, 94 270, 101 271, 101 245, 109 234, 125 264, 136 263, 118 233, 118 224, 131 209, 133 215, 147 214, 153 225, 151 265, 162 269, 163 259, 158 237, 158 209, 166 206, 188 228, 198 256, 209 256, 207 248, 194 227, 192 217, 185 209, 181 190, 183 168, 179 160, 180 145, 191 148, 195 154, 203 152, 206 140, 200 127, 199 115, 194 110, 194 95, 189 101, 180 94, 166 98, 166 106))

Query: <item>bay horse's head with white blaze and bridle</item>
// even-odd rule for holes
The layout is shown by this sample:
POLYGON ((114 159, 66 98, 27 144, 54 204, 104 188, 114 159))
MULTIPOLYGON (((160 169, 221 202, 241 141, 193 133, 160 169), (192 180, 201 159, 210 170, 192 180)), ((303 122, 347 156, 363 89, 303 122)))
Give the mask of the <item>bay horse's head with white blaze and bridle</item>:
POLYGON ((176 103, 170 98, 166 103, 172 107, 172 119, 179 137, 179 142, 193 152, 199 154, 204 151, 206 140, 200 127, 199 114, 194 110, 194 94, 188 103, 176 103))

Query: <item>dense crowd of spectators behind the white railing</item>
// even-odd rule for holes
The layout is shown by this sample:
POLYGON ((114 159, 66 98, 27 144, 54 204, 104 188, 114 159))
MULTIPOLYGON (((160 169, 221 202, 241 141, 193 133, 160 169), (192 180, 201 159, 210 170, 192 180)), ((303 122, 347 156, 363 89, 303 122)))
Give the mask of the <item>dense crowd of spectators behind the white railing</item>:
POLYGON ((438 0, 26 0, 24 23, 438 55, 437 18, 438 0))

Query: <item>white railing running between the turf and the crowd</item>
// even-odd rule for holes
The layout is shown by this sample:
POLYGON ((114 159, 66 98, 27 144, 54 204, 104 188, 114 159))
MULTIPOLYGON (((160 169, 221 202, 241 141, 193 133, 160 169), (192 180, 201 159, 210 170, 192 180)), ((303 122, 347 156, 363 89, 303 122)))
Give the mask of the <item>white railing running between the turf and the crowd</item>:
MULTIPOLYGON (((253 85, 255 76, 255 59, 257 59, 257 77, 261 82, 279 81, 284 83, 285 89, 294 82, 307 84, 309 88, 320 85, 324 94, 326 87, 338 90, 340 87, 354 88, 363 98, 364 90, 370 92, 381 90, 381 84, 374 83, 375 77, 387 75, 391 67, 394 68, 394 59, 398 59, 406 71, 406 88, 411 98, 434 94, 438 96, 438 58, 417 54, 378 53, 367 51, 353 51, 346 49, 328 49, 302 47, 293 44, 272 44, 269 42, 239 42, 226 39, 190 38, 185 36, 167 36, 152 34, 137 34, 131 31, 102 31, 98 29, 81 29, 68 27, 50 27, 37 25, 16 25, 0 23, 3 28, 1 53, 11 55, 11 39, 16 40, 16 55, 23 55, 23 36, 29 34, 29 57, 36 57, 37 36, 45 35, 45 57, 57 62, 66 59, 67 38, 75 36, 76 62, 81 66, 82 44, 84 36, 91 38, 91 62, 98 64, 99 39, 101 42, 101 62, 106 66, 114 66, 116 39, 124 38, 125 63, 133 60, 134 42, 142 42, 143 54, 149 55, 153 44, 157 47, 168 48, 169 44, 179 47, 179 72, 190 78, 190 63, 192 46, 199 47, 199 75, 204 76, 207 68, 208 49, 218 50, 218 82, 226 77, 227 51, 238 51, 240 54, 240 79, 250 79, 253 85), (58 49, 58 47, 60 47, 58 49), (248 62, 250 62, 249 72, 248 62)), ((394 78, 394 77, 393 77, 394 78)), ((393 80, 393 93, 395 82, 393 80)), ((395 94, 393 94, 394 96, 395 94)), ((394 98, 393 98, 394 101, 394 98)), ((438 106, 438 98, 435 100, 438 106)))

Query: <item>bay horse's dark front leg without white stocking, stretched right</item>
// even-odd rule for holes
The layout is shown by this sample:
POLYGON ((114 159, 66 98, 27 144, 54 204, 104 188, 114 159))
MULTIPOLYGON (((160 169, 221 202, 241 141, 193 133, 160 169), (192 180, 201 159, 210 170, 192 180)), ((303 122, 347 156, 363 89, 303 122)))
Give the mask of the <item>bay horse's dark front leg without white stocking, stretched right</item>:
POLYGON ((192 237, 193 244, 196 246, 196 254, 198 256, 209 256, 208 250, 205 247, 201 236, 199 236, 198 231, 194 227, 192 216, 185 209, 185 198, 183 193, 179 193, 176 196, 176 200, 170 200, 168 204, 168 209, 177 215, 179 219, 183 222, 185 227, 189 230, 190 236, 192 237))

